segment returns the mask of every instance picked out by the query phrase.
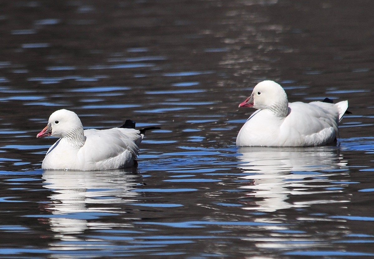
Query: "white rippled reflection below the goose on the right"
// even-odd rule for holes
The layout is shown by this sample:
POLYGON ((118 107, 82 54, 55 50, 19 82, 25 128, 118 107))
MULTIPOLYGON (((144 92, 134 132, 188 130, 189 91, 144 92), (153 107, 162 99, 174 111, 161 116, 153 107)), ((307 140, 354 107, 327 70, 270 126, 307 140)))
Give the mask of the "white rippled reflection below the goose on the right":
MULTIPOLYGON (((248 173, 242 178, 250 180, 251 183, 241 188, 251 190, 247 195, 254 197, 255 200, 251 206, 244 209, 272 212, 290 207, 309 206, 312 203, 342 202, 322 198, 313 201, 288 201, 290 196, 297 194, 338 192, 333 190, 335 185, 328 177, 342 174, 341 169, 347 165, 340 155, 339 147, 241 147, 238 153, 239 168, 248 173), (316 191, 312 187, 317 187, 316 191)), ((321 196, 315 195, 313 199, 316 197, 321 196)))

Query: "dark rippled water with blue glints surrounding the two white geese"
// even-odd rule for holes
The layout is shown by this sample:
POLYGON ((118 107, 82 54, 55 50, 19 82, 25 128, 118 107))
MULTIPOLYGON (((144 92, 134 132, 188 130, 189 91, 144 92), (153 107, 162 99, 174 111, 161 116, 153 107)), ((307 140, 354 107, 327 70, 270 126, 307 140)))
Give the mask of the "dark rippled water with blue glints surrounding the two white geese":
POLYGON ((1 1, 1 258, 374 256, 373 1, 1 1), (235 147, 263 79, 348 99, 337 146, 235 147), (40 169, 53 111, 157 125, 139 167, 40 169))

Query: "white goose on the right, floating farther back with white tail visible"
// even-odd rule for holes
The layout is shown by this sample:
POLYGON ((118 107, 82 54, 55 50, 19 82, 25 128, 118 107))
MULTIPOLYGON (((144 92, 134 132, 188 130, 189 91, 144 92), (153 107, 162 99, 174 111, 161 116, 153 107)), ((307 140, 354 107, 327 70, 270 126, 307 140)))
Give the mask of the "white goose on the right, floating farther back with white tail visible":
POLYGON ((324 146, 339 137, 338 125, 348 101, 288 103, 281 85, 258 83, 239 107, 255 111, 236 137, 236 146, 306 147, 324 146))

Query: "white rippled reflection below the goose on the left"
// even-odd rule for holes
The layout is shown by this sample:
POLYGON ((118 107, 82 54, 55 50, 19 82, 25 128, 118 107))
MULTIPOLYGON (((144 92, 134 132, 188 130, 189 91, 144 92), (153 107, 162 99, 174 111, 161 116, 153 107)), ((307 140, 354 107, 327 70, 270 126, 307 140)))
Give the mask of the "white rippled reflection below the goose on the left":
MULTIPOLYGON (((90 228, 90 219, 122 213, 120 204, 134 202, 138 195, 133 170, 113 171, 45 171, 43 187, 52 191, 45 209, 52 213, 52 231, 64 234, 82 233, 90 228)), ((102 224, 105 224, 102 222, 102 224)), ((105 226, 101 226, 105 227, 105 226)))

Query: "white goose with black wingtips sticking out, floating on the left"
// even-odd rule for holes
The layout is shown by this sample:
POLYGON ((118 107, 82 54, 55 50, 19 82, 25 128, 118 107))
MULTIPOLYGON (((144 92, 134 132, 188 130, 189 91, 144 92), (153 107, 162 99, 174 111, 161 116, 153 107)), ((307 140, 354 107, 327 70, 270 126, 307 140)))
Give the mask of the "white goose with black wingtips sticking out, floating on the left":
POLYGON ((57 110, 36 135, 37 138, 59 138, 47 151, 42 168, 94 171, 136 166, 144 132, 156 128, 137 130, 135 123, 128 120, 120 128, 83 130, 76 113, 57 110))

